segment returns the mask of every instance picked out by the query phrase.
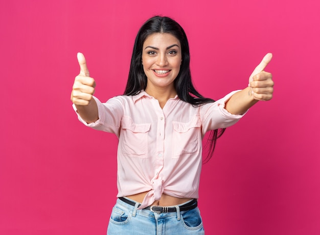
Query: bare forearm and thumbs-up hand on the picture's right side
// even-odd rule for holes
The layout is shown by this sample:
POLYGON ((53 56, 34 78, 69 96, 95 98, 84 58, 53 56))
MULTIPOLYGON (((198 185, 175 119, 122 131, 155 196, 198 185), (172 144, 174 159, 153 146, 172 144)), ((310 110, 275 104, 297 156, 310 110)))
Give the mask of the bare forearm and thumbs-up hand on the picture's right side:
POLYGON ((225 109, 229 113, 243 114, 259 100, 272 99, 272 74, 264 71, 271 58, 272 54, 268 53, 250 75, 248 87, 235 93, 225 103, 225 109))

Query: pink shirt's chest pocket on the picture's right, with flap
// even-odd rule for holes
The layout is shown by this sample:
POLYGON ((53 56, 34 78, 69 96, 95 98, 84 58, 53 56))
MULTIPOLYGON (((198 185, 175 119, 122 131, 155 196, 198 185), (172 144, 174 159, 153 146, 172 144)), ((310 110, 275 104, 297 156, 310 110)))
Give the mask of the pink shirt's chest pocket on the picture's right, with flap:
POLYGON ((173 121, 173 156, 178 159, 180 156, 198 154, 201 142, 201 121, 195 116, 190 122, 173 121))

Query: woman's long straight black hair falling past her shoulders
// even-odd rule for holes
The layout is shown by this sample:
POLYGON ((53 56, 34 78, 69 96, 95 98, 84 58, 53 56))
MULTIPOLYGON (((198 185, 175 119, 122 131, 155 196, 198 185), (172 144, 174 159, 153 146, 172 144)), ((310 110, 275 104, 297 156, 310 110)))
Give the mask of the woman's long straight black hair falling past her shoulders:
MULTIPOLYGON (((135 38, 127 86, 124 95, 136 95, 147 87, 147 76, 142 65, 143 43, 147 37, 154 33, 169 33, 176 37, 181 44, 182 62, 179 74, 174 80, 174 87, 178 97, 192 106, 198 107, 205 103, 215 102, 205 98, 197 92, 191 80, 190 51, 187 35, 182 27, 173 19, 163 16, 154 16, 148 19, 140 28, 135 38)), ((223 134, 225 128, 212 130, 208 137, 209 153, 204 162, 208 162, 213 154, 217 139, 223 134)))

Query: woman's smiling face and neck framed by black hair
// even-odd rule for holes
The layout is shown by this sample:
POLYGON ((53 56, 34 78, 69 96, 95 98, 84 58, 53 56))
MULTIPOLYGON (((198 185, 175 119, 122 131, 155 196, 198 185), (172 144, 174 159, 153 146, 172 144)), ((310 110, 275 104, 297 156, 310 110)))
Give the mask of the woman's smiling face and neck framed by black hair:
POLYGON ((143 44, 142 64, 147 76, 146 92, 175 92, 173 81, 180 71, 181 45, 172 34, 154 33, 143 44))

